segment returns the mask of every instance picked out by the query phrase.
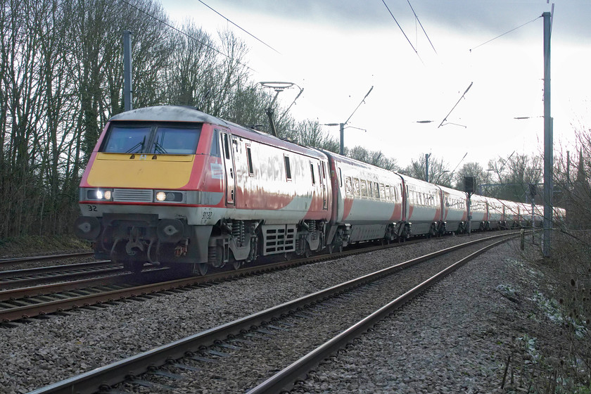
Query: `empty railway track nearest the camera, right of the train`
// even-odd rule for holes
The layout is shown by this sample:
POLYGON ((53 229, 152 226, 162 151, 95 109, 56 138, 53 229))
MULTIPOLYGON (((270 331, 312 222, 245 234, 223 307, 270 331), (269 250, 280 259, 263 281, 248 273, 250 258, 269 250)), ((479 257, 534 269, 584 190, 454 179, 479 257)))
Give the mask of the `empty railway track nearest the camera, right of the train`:
MULTIPOLYGON (((167 386, 182 388, 185 384, 184 381, 194 382, 197 379, 201 383, 205 382, 203 383, 205 385, 208 383, 224 385, 228 382, 226 375, 220 376, 222 371, 236 377, 236 375, 241 375, 241 371, 245 368, 248 370, 245 372, 246 380, 243 383, 232 383, 234 386, 231 387, 231 391, 244 392, 245 388, 256 386, 250 390, 250 393, 277 393, 291 386, 293 381, 305 376, 311 367, 342 348, 352 338, 388 316, 393 310, 424 291, 428 286, 450 274, 476 255, 495 246, 497 242, 493 239, 504 238, 498 242, 500 243, 506 241, 508 235, 510 234, 464 243, 381 269, 373 274, 364 275, 324 291, 318 291, 174 343, 128 357, 120 362, 94 369, 94 371, 80 376, 34 390, 32 393, 93 393, 99 389, 109 390, 114 385, 118 385, 115 390, 125 390, 130 386, 148 386, 152 390, 158 391, 167 386), (482 242, 489 244, 485 248, 478 246, 479 249, 475 250, 476 243, 482 242), (472 250, 467 256, 464 252, 462 258, 455 256, 455 262, 452 265, 437 260, 433 262, 433 259, 440 259, 440 256, 447 253, 460 253, 458 250, 462 248, 472 248, 472 250), (393 291, 396 283, 400 285, 398 273, 407 272, 409 267, 427 261, 432 267, 421 276, 426 276, 428 279, 420 279, 420 283, 406 284, 398 292, 393 291), (384 300, 384 295, 388 300, 384 300), (350 310, 352 303, 367 303, 367 305, 364 307, 364 312, 351 314, 348 310, 350 310), (360 313, 362 316, 359 316, 360 313), (327 319, 327 314, 331 314, 333 317, 327 319), (314 327, 326 326, 328 320, 331 322, 339 320, 334 319, 334 316, 341 316, 345 320, 345 326, 323 329, 325 337, 314 338, 314 333, 310 333, 310 330, 313 330, 314 327), (354 321, 352 324, 351 320, 354 321), (330 335, 326 336, 326 333, 330 335), (293 338, 295 341, 291 341, 293 338), (309 345, 303 346, 303 343, 310 342, 321 345, 311 348, 309 345), (292 355, 288 350, 298 350, 300 355, 291 359, 298 361, 293 362, 285 369, 285 364, 280 363, 281 367, 278 367, 278 359, 284 358, 282 357, 285 355, 284 353, 292 355), (257 356, 254 355, 255 352, 257 356), (281 352, 281 355, 277 355, 277 352, 281 352), (265 355, 267 355, 266 359, 256 358, 265 357, 265 355), (269 374, 269 371, 260 371, 260 368, 254 366, 262 366, 260 368, 270 369, 277 373, 269 374), (272 377, 268 377, 271 375, 272 377), (216 381, 217 383, 215 383, 216 381), (263 383, 260 383, 261 381, 263 383), (257 386, 258 383, 260 384, 257 386), (239 387, 236 387, 236 384, 239 387)), ((421 266, 423 265, 419 267, 421 266)), ((412 269, 415 268, 418 269, 418 267, 412 269)), ((414 272, 409 277, 417 277, 417 273, 414 272)), ((213 391, 216 391, 217 388, 224 391, 223 386, 207 387, 213 391)))

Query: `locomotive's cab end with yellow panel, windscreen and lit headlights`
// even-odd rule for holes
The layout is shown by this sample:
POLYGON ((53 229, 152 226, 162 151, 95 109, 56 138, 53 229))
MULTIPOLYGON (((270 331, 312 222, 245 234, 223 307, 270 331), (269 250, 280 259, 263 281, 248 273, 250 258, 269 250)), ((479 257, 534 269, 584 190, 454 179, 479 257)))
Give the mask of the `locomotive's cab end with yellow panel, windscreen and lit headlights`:
POLYGON ((215 119, 193 108, 128 111, 106 125, 80 183, 75 233, 96 258, 206 262, 224 196, 215 119), (219 213, 219 212, 218 212, 219 213))

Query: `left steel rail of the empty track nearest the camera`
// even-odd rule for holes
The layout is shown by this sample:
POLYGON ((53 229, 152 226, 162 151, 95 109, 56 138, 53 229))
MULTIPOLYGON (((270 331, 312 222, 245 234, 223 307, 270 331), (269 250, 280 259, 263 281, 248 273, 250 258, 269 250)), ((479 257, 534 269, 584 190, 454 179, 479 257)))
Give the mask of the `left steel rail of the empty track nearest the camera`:
POLYGON ((53 383, 49 386, 33 390, 29 394, 49 394, 49 393, 94 393, 101 388, 108 388, 117 383, 124 381, 129 376, 137 376, 147 371, 148 367, 160 367, 166 364, 167 360, 177 360, 184 357, 187 353, 196 352, 202 346, 208 346, 215 343, 220 338, 226 338, 229 335, 235 335, 241 330, 248 330, 252 326, 258 326, 265 322, 270 322, 276 317, 281 317, 282 314, 288 314, 290 311, 298 310, 298 308, 313 305, 321 300, 329 298, 333 295, 338 295, 351 288, 356 288, 362 284, 370 281, 375 281, 388 274, 400 271, 400 269, 416 265, 426 260, 431 260, 440 255, 471 246, 476 243, 488 241, 490 239, 497 239, 500 237, 514 236, 511 234, 499 234, 495 236, 486 237, 484 239, 477 239, 462 243, 461 245, 452 246, 443 250, 438 250, 428 255, 414 258, 400 264, 393 265, 377 272, 364 275, 357 279, 346 281, 343 284, 338 284, 322 291, 305 295, 295 300, 288 301, 275 307, 270 307, 267 310, 250 314, 247 317, 236 319, 233 322, 228 322, 220 326, 214 327, 196 333, 192 336, 179 339, 167 345, 159 346, 153 350, 141 352, 138 355, 127 357, 124 360, 113 362, 104 367, 87 371, 78 376, 72 376, 69 379, 53 383))

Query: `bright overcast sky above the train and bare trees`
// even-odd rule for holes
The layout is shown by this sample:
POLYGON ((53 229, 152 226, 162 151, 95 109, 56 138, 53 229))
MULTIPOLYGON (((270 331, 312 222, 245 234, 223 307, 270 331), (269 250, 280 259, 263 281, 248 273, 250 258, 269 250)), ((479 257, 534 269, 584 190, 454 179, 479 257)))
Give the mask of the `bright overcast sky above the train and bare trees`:
MULTIPOLYGON (((433 153, 450 168, 465 153, 464 163, 486 168, 498 155, 542 150, 543 25, 538 17, 551 11, 546 0, 410 1, 431 43, 407 0, 386 0, 407 37, 381 0, 203 1, 279 53, 198 0, 162 3, 179 23, 191 18, 212 35, 233 30, 250 46, 253 80, 302 87, 292 107, 296 119, 345 122, 374 87, 345 129, 348 148, 381 150, 402 167, 433 153), (438 127, 471 83, 448 124, 438 127)), ((554 4, 554 145, 572 150, 573 128, 591 128, 591 1, 554 4)), ((279 100, 288 106, 297 94, 298 89, 290 89, 279 100)), ((338 127, 326 130, 338 139, 338 127)))

